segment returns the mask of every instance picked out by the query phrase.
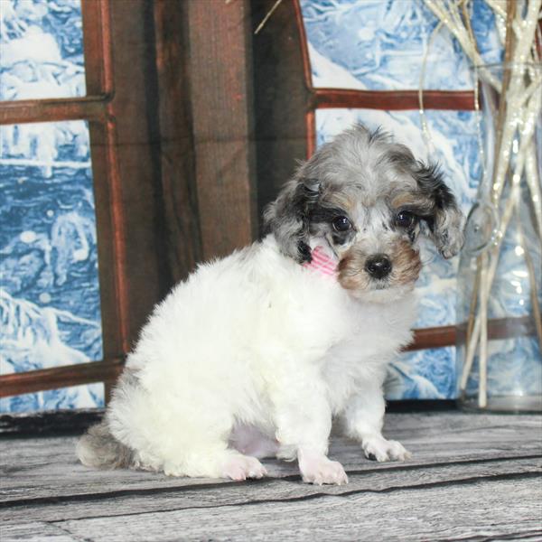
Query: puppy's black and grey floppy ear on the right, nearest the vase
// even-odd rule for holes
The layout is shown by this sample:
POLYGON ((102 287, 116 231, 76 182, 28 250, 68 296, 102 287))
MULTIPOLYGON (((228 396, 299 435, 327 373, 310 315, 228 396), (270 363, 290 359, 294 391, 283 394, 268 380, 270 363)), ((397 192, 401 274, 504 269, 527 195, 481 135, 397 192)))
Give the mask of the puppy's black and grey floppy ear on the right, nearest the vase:
POLYGON ((455 256, 463 246, 464 215, 453 193, 443 180, 438 165, 416 162, 414 177, 423 195, 432 202, 432 209, 424 217, 429 237, 440 254, 455 256))

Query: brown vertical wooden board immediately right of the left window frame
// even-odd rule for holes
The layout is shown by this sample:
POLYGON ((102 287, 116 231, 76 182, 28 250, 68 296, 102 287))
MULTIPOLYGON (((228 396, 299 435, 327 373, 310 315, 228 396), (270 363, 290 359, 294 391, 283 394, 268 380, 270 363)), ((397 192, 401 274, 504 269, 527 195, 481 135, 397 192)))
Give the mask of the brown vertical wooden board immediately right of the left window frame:
POLYGON ((110 272, 117 274, 126 352, 172 279, 163 240, 153 5, 145 0, 108 5, 115 93, 108 106, 107 145, 114 154, 110 161, 117 186, 113 233, 118 237, 117 269, 110 272))

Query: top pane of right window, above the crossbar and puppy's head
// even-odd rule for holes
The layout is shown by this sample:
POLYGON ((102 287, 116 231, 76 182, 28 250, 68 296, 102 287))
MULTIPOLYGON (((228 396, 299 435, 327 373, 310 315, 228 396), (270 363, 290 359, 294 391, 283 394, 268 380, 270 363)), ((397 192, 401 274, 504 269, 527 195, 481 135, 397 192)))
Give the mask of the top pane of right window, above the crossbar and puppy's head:
MULTIPOLYGON (((314 87, 418 89, 437 19, 424 2, 300 0, 314 87)), ((494 14, 473 3, 473 31, 486 62, 502 55, 494 14)), ((425 89, 471 89, 469 61, 447 29, 427 57, 425 89)))

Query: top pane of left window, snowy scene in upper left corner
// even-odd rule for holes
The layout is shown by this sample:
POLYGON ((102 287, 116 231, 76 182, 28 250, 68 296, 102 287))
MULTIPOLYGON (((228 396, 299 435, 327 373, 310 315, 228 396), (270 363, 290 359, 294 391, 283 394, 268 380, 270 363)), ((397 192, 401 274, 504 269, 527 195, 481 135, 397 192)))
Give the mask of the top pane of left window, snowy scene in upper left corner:
POLYGON ((80 0, 1 0, 0 99, 84 96, 80 0))

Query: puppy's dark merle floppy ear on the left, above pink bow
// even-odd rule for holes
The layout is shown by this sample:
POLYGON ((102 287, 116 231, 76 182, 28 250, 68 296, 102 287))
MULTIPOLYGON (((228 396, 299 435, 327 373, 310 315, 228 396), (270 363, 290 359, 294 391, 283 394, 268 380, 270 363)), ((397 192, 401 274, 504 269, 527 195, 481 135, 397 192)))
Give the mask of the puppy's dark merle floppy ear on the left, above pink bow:
POLYGON ((311 261, 309 215, 319 192, 320 183, 316 179, 298 175, 285 184, 264 211, 266 230, 275 235, 281 251, 299 263, 311 261))

